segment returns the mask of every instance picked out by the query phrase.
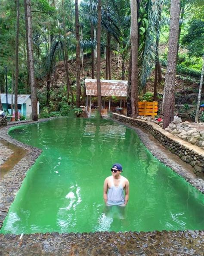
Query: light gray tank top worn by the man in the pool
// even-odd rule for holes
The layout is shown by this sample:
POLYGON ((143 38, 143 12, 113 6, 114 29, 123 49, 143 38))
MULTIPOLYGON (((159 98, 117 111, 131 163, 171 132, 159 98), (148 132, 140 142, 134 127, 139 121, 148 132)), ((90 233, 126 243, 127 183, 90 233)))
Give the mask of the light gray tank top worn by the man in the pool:
POLYGON ((118 187, 114 186, 113 176, 111 176, 111 187, 108 189, 108 205, 122 205, 125 203, 124 199, 124 189, 123 189, 123 179, 118 187))

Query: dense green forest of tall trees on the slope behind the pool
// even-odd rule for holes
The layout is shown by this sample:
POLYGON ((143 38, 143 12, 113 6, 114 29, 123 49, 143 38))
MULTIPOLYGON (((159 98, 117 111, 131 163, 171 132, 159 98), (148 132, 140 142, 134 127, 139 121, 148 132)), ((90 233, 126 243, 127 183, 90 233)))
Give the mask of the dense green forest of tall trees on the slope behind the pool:
POLYGON ((37 121, 80 112, 85 78, 97 80, 99 111, 100 80, 128 80, 127 115, 139 99, 161 100, 166 128, 179 80, 198 94, 192 121, 204 122, 203 42, 202 0, 1 0, 0 93, 12 94, 16 119, 17 95, 31 94, 37 121))

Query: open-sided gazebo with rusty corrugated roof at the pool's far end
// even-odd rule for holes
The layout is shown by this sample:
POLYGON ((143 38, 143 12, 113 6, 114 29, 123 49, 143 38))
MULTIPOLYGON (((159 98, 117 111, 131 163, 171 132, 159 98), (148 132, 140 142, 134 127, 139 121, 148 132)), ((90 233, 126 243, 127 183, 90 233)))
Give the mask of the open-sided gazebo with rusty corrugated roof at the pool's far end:
MULTIPOLYGON (((101 80, 102 96, 102 115, 107 115, 111 111, 111 96, 118 97, 120 108, 124 109, 127 102, 127 82, 126 80, 101 80), (105 106, 105 97, 108 97, 108 107, 105 106)), ((97 97, 96 79, 85 79, 86 85, 86 111, 89 115, 93 114, 96 109, 92 109, 92 97, 97 97)))

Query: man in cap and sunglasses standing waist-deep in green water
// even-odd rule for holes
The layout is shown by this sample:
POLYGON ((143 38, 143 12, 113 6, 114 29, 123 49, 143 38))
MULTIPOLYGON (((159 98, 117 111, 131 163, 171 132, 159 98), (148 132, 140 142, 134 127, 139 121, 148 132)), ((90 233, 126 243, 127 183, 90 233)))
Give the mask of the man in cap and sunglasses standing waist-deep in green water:
POLYGON ((129 181, 121 176, 122 169, 123 167, 120 163, 114 163, 111 168, 112 175, 104 181, 103 198, 107 206, 127 205, 129 199, 129 181))

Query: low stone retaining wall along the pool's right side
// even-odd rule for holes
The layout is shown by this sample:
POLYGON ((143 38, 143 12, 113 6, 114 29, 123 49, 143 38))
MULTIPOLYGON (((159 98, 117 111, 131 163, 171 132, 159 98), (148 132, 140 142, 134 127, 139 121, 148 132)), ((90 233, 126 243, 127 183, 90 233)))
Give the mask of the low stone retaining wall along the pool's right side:
POLYGON ((150 132, 164 147, 169 149, 173 154, 178 155, 181 160, 189 163, 195 173, 204 173, 204 150, 194 146, 182 139, 176 138, 173 134, 164 131, 154 123, 144 120, 133 119, 127 116, 113 113, 113 118, 133 126, 141 127, 150 132))

